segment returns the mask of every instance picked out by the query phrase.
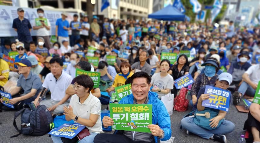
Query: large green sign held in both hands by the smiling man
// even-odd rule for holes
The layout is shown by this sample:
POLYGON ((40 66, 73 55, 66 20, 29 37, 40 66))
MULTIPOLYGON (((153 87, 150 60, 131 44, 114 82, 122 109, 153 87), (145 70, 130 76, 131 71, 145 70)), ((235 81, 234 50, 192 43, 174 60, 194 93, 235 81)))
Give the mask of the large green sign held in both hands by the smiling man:
POLYGON ((109 104, 112 129, 150 133, 147 125, 152 124, 151 104, 109 104))

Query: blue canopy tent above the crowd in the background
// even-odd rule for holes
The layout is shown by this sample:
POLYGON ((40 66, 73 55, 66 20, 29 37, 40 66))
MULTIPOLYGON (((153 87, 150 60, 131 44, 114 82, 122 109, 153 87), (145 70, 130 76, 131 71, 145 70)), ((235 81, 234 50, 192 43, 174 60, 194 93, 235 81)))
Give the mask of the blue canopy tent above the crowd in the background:
POLYGON ((172 5, 167 5, 165 8, 148 15, 148 18, 165 21, 184 21, 185 15, 172 5))

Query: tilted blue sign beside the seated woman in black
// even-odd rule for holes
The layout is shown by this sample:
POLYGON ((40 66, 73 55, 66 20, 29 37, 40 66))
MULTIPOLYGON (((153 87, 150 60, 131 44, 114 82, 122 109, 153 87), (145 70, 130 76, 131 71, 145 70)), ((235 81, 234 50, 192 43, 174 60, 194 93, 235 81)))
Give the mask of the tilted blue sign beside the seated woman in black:
POLYGON ((175 87, 177 89, 183 88, 183 87, 187 87, 189 85, 191 85, 194 82, 192 76, 190 74, 184 75, 178 79, 175 80, 175 87))

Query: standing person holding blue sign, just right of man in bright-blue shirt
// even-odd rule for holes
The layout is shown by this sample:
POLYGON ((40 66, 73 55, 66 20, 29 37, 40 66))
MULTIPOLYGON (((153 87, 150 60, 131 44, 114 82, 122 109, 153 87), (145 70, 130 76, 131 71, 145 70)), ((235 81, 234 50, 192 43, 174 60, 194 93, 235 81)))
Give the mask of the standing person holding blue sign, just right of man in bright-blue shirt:
POLYGON ((73 21, 70 22, 71 36, 70 36, 70 46, 74 46, 76 41, 80 38, 80 31, 82 27, 78 21, 79 16, 77 14, 73 15, 73 21))

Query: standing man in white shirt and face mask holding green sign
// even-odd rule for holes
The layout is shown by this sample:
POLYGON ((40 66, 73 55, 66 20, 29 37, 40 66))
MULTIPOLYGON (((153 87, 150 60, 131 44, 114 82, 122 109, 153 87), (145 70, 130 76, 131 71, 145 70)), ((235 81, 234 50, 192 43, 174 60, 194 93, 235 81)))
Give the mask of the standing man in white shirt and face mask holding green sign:
POLYGON ((50 47, 50 21, 46 19, 46 22, 44 20, 42 20, 44 18, 44 10, 42 8, 38 8, 37 9, 37 13, 40 19, 40 23, 41 25, 36 23, 36 19, 33 21, 33 30, 36 31, 36 36, 37 38, 42 37, 44 38, 45 41, 45 47, 49 50, 50 47))

